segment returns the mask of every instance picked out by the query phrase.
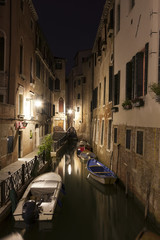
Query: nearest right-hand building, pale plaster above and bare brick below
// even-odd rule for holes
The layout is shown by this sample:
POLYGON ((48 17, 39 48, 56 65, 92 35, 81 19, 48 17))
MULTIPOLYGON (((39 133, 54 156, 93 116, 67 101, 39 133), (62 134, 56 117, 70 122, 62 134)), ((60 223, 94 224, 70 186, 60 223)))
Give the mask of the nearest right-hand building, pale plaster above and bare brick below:
POLYGON ((157 0, 115 0, 113 169, 158 222, 159 12, 157 0))

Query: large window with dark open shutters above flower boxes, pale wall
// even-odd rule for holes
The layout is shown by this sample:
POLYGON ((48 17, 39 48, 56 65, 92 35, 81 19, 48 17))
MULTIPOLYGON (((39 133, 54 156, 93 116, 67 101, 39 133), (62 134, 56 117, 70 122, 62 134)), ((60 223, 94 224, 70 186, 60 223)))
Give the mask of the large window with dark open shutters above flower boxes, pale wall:
POLYGON ((147 94, 149 44, 126 64, 126 99, 147 94))

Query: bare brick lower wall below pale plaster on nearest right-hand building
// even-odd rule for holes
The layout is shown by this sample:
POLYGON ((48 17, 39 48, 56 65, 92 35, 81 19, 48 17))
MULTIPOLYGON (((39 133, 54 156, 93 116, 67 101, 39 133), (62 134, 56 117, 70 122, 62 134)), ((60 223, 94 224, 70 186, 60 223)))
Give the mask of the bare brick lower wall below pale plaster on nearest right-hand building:
POLYGON ((160 229, 159 129, 118 126, 118 142, 113 144, 113 171, 142 204, 145 218, 152 218, 160 229), (126 130, 131 131, 130 148, 126 146, 126 130), (143 152, 137 153, 137 130, 143 132, 143 152))

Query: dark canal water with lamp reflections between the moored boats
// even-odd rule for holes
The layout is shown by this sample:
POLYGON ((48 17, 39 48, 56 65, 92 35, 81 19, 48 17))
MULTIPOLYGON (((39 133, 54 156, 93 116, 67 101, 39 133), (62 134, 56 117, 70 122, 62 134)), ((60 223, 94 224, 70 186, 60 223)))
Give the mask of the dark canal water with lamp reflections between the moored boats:
POLYGON ((0 238, 18 231, 25 240, 135 240, 144 227, 153 230, 119 183, 103 186, 88 176, 86 163, 73 148, 68 146, 65 154, 53 161, 52 170, 61 175, 65 185, 52 223, 24 228, 15 225, 10 216, 0 225, 0 238))

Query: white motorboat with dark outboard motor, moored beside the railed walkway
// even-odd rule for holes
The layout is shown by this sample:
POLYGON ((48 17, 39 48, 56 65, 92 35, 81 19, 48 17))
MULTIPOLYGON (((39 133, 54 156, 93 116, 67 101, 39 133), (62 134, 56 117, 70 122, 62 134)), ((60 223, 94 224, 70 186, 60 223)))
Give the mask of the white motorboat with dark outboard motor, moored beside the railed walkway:
POLYGON ((35 220, 51 221, 61 188, 62 179, 57 173, 48 172, 35 178, 13 213, 15 221, 27 224, 35 220))

